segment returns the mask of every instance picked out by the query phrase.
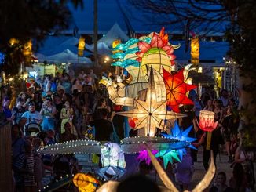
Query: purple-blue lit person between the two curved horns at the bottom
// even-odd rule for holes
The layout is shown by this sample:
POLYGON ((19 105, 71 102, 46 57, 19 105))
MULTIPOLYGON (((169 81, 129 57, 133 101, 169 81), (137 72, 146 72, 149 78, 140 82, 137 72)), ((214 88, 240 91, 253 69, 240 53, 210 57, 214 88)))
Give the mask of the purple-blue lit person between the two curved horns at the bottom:
POLYGON ((179 184, 180 190, 188 190, 193 173, 195 171, 193 159, 190 150, 183 156, 182 161, 176 164, 175 177, 179 184))

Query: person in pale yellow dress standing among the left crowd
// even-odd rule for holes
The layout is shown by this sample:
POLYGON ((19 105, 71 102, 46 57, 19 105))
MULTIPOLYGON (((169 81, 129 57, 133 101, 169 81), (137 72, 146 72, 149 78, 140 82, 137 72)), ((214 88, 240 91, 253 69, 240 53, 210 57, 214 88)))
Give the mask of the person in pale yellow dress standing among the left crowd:
POLYGON ((64 125, 66 124, 66 122, 71 122, 73 119, 73 113, 74 110, 73 108, 70 106, 70 103, 68 100, 66 100, 65 104, 64 104, 64 108, 61 109, 60 112, 60 119, 61 119, 61 133, 64 132, 64 125))

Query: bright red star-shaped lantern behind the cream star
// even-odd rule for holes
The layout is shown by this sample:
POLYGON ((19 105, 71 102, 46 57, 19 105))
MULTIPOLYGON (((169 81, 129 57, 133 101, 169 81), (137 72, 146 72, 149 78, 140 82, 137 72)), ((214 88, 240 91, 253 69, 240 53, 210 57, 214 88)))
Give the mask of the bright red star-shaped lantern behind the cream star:
POLYGON ((170 74, 163 69, 163 81, 166 85, 167 106, 171 107, 174 112, 180 112, 179 106, 193 105, 192 100, 189 100, 186 93, 196 88, 196 85, 188 85, 184 82, 183 70, 175 74, 170 74))

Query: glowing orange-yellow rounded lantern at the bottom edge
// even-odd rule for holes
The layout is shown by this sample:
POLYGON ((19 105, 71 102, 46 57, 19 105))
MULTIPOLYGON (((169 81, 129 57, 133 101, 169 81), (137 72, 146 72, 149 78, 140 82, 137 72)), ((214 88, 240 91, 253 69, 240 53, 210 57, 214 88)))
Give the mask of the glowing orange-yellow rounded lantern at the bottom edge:
POLYGON ((73 178, 73 183, 79 191, 94 192, 99 186, 99 182, 93 176, 84 173, 77 173, 73 178))

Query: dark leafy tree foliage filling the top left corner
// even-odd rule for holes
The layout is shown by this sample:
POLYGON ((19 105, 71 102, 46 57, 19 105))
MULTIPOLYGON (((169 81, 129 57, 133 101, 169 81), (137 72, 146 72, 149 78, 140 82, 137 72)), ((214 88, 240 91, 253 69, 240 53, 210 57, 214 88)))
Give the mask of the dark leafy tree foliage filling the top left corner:
POLYGON ((58 33, 68 27, 71 13, 67 4, 82 7, 82 0, 2 0, 0 1, 0 51, 5 53, 2 70, 16 74, 24 62, 22 48, 29 39, 40 45, 49 33, 58 33), (10 46, 9 40, 19 40, 10 46), (6 70, 8 69, 8 70, 6 70))

